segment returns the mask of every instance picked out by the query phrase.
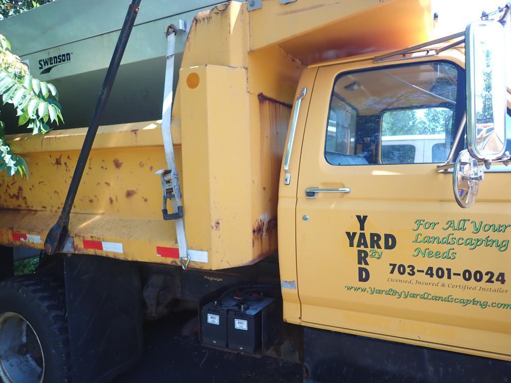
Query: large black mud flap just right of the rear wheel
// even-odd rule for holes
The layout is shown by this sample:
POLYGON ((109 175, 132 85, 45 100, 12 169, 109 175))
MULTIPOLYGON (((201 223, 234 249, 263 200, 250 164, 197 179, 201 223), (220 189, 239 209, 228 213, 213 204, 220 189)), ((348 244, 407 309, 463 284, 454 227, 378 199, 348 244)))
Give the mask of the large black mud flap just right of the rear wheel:
POLYGON ((142 353, 142 289, 136 264, 95 255, 65 257, 74 383, 102 383, 142 353))

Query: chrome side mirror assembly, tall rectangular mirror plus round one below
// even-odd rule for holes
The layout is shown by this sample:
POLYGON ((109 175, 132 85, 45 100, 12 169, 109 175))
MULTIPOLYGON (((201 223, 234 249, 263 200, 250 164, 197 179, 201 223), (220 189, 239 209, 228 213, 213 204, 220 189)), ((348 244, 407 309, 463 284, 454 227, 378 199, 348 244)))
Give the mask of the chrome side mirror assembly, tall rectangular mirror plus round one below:
MULTIPOLYGON (((508 13, 506 9, 503 18, 508 13)), ((509 162, 508 153, 502 157, 507 142, 505 44, 499 21, 474 21, 465 31, 468 150, 459 153, 452 181, 454 198, 463 208, 476 201, 484 166, 509 162)))

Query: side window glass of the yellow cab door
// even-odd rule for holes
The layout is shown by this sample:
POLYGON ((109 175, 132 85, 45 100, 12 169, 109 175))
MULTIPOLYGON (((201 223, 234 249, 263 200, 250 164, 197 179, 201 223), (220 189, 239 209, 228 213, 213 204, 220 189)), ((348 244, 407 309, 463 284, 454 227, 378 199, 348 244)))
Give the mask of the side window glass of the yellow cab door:
POLYGON ((429 62, 340 74, 324 155, 332 165, 439 163, 455 134, 458 68, 429 62))

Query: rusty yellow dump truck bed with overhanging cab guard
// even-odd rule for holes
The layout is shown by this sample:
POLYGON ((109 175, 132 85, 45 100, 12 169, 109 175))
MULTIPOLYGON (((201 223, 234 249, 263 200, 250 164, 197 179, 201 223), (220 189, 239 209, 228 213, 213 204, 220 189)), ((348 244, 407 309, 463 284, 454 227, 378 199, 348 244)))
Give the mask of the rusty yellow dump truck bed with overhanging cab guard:
MULTIPOLYGON (((277 251, 282 153, 297 82, 306 65, 425 41, 432 33, 432 16, 425 15, 431 16, 430 4, 420 0, 342 4, 329 0, 321 6, 300 0, 285 7, 277 1, 263 2, 258 11, 248 11, 246 3, 230 2, 194 17, 172 122, 191 267, 250 265, 277 251), (403 12, 406 17, 396 17, 391 24, 382 17, 403 12), (266 30, 268 25, 272 28, 266 30), (377 39, 367 38, 377 31, 377 39), (308 51, 300 45, 304 39, 308 51), (348 40, 351 47, 345 49, 348 40)), ((128 57, 136 56, 136 28, 128 57)), ((93 36, 68 47, 95 46, 103 39, 93 36)), ((65 70, 78 70, 73 60, 65 70)), ((61 67, 64 70, 65 65, 61 67)), ((140 67, 140 71, 152 69, 140 67)), ((38 74, 32 65, 31 71, 38 74)), ((151 81, 163 81, 164 71, 158 73, 159 77, 151 73, 156 79, 151 81)), ((65 81, 62 77, 55 82, 65 87, 65 81)), ((115 86, 122 87, 124 81, 119 78, 115 86)), ((74 91, 79 93, 80 87, 76 85, 74 91)), ((145 113, 145 104, 132 109, 123 106, 119 97, 112 102, 117 113, 145 113)), ((123 97, 130 99, 129 94, 123 97)), ((66 95, 61 98, 64 105, 66 95)), ((73 103, 72 95, 67 98, 73 103)), ((160 109, 161 104, 152 107, 160 109)), ((63 109, 65 119, 68 114, 74 118, 72 110, 63 109)), ((30 178, 0 175, 0 244, 43 248, 85 133, 86 128, 76 128, 8 137, 13 150, 26 158, 30 178)), ((156 118, 100 127, 73 206, 64 251, 178 265, 175 226, 162 220, 162 191, 154 175, 165 167, 156 118)))

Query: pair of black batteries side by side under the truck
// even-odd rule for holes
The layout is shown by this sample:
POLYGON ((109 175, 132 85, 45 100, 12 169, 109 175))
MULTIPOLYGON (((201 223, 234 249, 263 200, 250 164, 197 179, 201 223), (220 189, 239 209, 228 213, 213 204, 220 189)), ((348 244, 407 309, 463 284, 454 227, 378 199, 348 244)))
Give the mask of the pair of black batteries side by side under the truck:
POLYGON ((250 354, 263 353, 276 340, 279 319, 275 299, 270 297, 215 300, 201 309, 202 343, 250 354))

